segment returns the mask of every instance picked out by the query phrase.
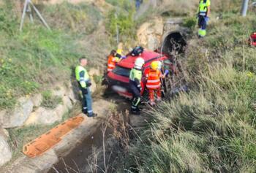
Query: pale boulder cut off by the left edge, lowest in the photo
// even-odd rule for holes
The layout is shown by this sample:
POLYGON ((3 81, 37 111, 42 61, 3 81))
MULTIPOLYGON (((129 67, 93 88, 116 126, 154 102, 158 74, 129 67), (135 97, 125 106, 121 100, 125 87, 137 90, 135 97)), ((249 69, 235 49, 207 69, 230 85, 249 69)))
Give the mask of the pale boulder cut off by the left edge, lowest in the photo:
POLYGON ((12 158, 12 151, 8 145, 7 139, 0 134, 0 166, 6 164, 12 158))

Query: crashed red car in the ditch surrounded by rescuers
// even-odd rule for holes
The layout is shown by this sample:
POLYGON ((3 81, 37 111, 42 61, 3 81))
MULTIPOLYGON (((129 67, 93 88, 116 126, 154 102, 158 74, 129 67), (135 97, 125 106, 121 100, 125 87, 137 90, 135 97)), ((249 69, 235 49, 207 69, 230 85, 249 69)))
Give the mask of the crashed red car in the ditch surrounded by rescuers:
MULTIPOLYGON (((164 66, 170 66, 170 60, 165 56, 159 53, 151 52, 145 50, 140 57, 145 60, 145 64, 143 66, 143 73, 150 68, 152 61, 164 61, 164 66)), ((121 96, 132 99, 132 93, 129 89, 129 72, 133 68, 135 64, 135 59, 138 56, 128 55, 127 58, 121 60, 115 69, 112 72, 109 72, 105 77, 108 82, 108 86, 110 86, 113 91, 116 91, 121 96)), ((146 78, 143 77, 141 81, 142 91, 141 95, 146 91, 146 78)))

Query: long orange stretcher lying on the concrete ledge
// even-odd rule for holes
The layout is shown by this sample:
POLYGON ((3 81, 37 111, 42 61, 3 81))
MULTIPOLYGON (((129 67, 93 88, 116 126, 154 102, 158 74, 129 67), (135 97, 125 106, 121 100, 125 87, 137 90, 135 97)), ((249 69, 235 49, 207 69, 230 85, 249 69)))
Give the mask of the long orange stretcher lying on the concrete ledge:
POLYGON ((47 150, 52 148, 54 145, 61 141, 61 137, 64 137, 73 128, 76 128, 84 120, 83 116, 77 116, 74 118, 69 118, 64 123, 59 124, 50 131, 42 134, 42 136, 34 139, 34 141, 29 142, 23 146, 23 153, 30 158, 35 158, 42 155, 47 150))

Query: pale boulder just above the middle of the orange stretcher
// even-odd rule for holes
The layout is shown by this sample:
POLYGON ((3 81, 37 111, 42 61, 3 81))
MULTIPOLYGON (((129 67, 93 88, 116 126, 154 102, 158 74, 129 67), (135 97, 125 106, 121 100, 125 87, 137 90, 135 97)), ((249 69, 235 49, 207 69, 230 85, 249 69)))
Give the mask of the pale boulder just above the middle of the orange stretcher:
POLYGON ((31 113, 29 119, 26 120, 25 126, 37 124, 50 125, 56 123, 62 118, 62 116, 59 116, 56 112, 56 109, 45 109, 44 107, 39 107, 35 112, 31 113))

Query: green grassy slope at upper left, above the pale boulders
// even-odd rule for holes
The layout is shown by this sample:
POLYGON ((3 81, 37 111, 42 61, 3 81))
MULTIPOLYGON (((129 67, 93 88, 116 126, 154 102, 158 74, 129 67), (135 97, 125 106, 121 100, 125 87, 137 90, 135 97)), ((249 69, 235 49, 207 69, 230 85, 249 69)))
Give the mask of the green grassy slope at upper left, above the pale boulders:
POLYGON ((26 23, 20 33, 12 4, 0 8, 0 109, 13 107, 20 96, 68 81, 80 55, 89 56, 77 41, 97 27, 101 17, 95 7, 64 3, 40 9, 52 31, 26 23))

